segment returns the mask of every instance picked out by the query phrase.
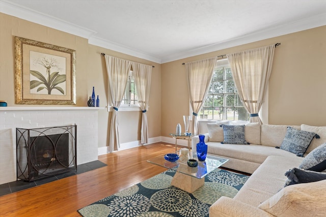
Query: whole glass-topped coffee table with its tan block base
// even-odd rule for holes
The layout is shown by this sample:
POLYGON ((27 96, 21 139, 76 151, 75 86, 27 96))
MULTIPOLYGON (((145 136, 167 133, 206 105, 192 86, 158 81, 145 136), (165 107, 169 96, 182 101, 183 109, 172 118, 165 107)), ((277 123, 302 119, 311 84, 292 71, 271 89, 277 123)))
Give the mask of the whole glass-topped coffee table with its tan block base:
MULTIPOLYGON (((189 159, 198 161, 196 152, 189 152, 189 155, 189 159)), ((172 178, 171 184, 186 192, 193 193, 204 185, 207 174, 229 161, 229 159, 207 155, 205 161, 198 161, 197 167, 189 167, 187 160, 188 158, 179 158, 176 162, 169 162, 164 159, 164 156, 159 156, 147 162, 168 169, 175 169, 176 173, 172 178)))

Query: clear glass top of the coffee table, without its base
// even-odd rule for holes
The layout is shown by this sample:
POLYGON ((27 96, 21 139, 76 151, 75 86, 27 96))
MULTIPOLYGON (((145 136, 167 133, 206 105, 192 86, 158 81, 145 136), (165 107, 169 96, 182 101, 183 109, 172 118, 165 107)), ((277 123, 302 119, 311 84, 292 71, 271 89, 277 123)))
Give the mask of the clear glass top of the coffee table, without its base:
POLYGON ((189 152, 191 156, 190 159, 195 159, 198 161, 197 167, 189 167, 187 165, 187 158, 179 158, 176 162, 169 162, 164 159, 164 156, 159 156, 153 159, 148 160, 147 162, 156 164, 161 167, 165 167, 168 169, 175 169, 177 172, 193 176, 196 178, 203 178, 208 173, 212 172, 213 170, 221 167, 223 164, 229 161, 229 159, 219 158, 215 156, 207 155, 206 160, 204 162, 199 161, 197 158, 196 152, 189 152))

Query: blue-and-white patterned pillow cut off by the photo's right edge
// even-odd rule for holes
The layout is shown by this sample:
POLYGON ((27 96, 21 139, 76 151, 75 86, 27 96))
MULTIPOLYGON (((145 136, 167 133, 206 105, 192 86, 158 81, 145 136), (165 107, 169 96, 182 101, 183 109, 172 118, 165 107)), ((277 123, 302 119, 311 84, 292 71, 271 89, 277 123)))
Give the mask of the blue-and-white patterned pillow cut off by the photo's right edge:
POLYGON ((313 149, 302 161, 299 168, 316 172, 326 170, 326 143, 313 149))

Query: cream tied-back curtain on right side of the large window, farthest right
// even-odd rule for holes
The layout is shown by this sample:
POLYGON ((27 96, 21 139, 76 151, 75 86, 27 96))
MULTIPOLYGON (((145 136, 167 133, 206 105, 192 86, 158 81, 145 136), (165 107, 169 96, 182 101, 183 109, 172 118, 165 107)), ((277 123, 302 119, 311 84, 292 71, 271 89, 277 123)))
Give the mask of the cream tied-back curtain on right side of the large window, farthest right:
POLYGON ((275 45, 227 54, 235 86, 250 122, 262 123, 258 112, 273 64, 275 45))

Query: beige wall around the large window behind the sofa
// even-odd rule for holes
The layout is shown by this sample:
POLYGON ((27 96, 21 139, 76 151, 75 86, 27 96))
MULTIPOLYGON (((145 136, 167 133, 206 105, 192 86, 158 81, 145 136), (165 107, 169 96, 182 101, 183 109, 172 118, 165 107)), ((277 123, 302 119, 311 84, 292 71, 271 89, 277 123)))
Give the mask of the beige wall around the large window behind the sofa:
POLYGON ((182 63, 281 43, 269 79, 268 122, 326 126, 326 26, 162 64, 162 136, 189 113, 182 63))

